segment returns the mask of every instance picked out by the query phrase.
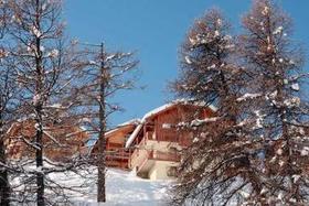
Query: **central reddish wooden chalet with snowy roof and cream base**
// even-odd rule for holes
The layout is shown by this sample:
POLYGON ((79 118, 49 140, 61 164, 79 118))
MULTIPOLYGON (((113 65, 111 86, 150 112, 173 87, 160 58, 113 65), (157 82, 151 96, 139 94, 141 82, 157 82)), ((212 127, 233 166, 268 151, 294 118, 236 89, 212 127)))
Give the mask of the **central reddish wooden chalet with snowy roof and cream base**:
POLYGON ((146 113, 141 120, 115 128, 106 133, 107 165, 134 170, 145 178, 172 178, 180 150, 193 138, 190 131, 180 131, 177 126, 192 117, 213 117, 214 111, 214 107, 174 101, 146 113))

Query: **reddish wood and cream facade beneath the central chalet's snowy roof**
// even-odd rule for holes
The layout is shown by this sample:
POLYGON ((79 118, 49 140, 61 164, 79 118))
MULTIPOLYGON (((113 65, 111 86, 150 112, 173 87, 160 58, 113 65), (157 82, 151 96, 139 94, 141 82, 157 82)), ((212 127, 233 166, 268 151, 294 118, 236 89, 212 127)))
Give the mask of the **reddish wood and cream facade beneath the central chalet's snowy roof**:
POLYGON ((147 115, 142 128, 137 133, 130 148, 134 152, 129 159, 129 167, 140 176, 147 174, 154 162, 180 162, 180 150, 190 145, 193 134, 190 130, 180 129, 192 118, 213 117, 214 111, 207 107, 193 105, 171 105, 147 115), (146 174, 145 174, 146 173, 146 174))

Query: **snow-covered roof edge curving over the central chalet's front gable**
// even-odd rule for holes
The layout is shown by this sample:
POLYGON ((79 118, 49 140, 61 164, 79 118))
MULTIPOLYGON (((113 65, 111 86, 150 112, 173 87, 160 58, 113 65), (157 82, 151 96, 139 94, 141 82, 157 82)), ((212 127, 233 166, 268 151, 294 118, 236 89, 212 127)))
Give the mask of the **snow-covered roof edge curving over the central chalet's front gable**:
MULTIPOLYGON (((194 104, 192 104, 192 102, 191 102, 190 100, 188 100, 188 99, 178 99, 178 100, 171 101, 171 102, 169 102, 169 104, 166 104, 166 105, 163 105, 163 106, 161 106, 161 107, 158 107, 158 108, 156 108, 156 109, 153 109, 153 110, 147 112, 147 113, 143 116, 143 118, 140 120, 140 123, 138 124, 138 127, 135 129, 135 131, 134 131, 134 132, 131 133, 131 135, 128 138, 128 140, 127 140, 127 142, 126 142, 126 148, 129 148, 129 147, 131 145, 131 143, 134 142, 134 140, 136 139, 136 137, 137 137, 138 133, 140 132, 141 128, 142 128, 142 126, 143 126, 143 123, 146 122, 146 120, 147 120, 148 118, 150 118, 150 117, 152 117, 152 116, 154 116, 154 115, 158 115, 158 113, 160 113, 160 112, 162 112, 162 111, 166 111, 166 110, 168 110, 168 109, 170 109, 171 107, 177 106, 177 105, 196 105, 196 106, 202 106, 202 107, 206 106, 204 102, 199 102, 199 104, 194 102, 194 104)), ((213 106, 213 105, 209 105, 209 106, 206 106, 206 107, 210 108, 210 109, 213 110, 213 111, 216 111, 216 110, 217 110, 217 108, 216 108, 215 106, 213 106)))

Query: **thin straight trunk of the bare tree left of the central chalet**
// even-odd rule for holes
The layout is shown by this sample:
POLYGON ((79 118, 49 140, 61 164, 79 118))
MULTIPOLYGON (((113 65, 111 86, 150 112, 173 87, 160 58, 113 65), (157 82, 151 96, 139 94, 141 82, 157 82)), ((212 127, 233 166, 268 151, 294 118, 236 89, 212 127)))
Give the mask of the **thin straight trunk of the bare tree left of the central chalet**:
POLYGON ((106 69, 104 65, 104 45, 102 44, 102 66, 100 66, 100 89, 99 89, 99 135, 98 135, 98 183, 97 183, 97 202, 106 202, 105 192, 105 173, 106 173, 106 161, 105 161, 105 130, 106 130, 106 117, 105 117, 105 87, 106 87, 106 69))

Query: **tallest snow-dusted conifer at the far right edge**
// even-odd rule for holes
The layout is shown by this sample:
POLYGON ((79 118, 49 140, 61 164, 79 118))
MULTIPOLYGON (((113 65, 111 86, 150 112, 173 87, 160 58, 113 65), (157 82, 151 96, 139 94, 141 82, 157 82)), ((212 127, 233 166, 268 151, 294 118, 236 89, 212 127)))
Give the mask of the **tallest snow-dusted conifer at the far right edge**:
POLYGON ((308 100, 301 46, 291 39, 291 19, 271 0, 254 2, 244 17, 239 53, 255 78, 251 90, 260 94, 253 111, 263 139, 264 176, 259 200, 268 205, 308 204, 308 100))

